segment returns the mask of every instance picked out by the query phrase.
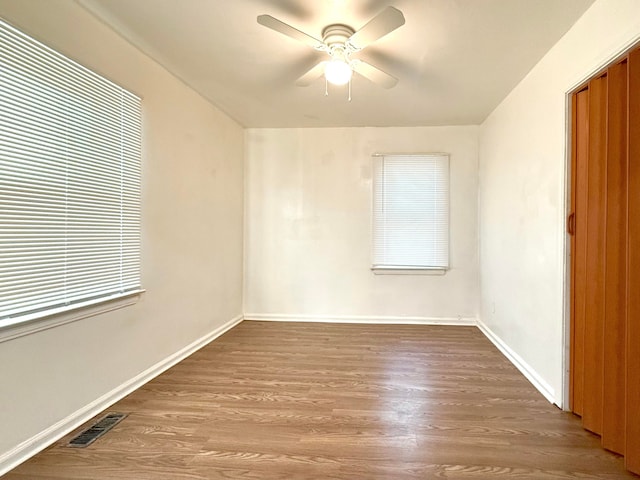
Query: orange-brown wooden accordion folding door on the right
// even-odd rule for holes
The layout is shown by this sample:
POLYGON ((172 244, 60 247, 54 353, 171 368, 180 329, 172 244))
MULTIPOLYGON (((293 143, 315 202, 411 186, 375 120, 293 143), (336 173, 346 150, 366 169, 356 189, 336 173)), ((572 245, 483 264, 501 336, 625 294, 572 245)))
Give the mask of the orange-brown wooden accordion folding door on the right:
POLYGON ((640 50, 572 100, 571 408, 640 473, 640 50))

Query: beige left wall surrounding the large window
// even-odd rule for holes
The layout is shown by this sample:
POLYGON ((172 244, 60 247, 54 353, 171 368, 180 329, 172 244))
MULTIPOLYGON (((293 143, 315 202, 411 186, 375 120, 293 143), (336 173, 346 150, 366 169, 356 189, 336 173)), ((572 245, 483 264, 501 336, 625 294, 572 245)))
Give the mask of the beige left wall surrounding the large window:
POLYGON ((0 460, 10 461, 21 442, 242 313, 244 137, 75 2, 0 0, 0 15, 141 95, 144 118, 147 292, 0 343, 0 460))

